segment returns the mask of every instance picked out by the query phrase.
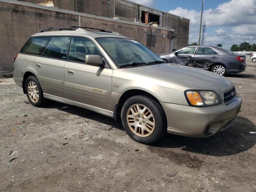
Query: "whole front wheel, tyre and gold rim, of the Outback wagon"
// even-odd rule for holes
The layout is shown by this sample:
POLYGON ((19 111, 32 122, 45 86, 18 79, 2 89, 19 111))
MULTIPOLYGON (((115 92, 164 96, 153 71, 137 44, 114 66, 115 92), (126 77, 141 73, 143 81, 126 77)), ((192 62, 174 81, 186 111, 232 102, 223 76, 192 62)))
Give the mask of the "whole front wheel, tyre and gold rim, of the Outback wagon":
POLYGON ((121 120, 126 133, 140 143, 155 143, 167 132, 162 106, 147 96, 132 96, 126 100, 121 120))

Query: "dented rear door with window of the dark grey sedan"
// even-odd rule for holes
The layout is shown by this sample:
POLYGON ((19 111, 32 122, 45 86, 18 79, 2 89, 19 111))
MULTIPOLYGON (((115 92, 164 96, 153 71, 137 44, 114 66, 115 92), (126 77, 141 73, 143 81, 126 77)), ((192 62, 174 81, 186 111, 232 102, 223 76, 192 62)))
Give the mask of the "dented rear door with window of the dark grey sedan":
POLYGON ((193 65, 196 68, 208 70, 212 64, 216 63, 219 54, 210 47, 199 46, 193 58, 193 65))

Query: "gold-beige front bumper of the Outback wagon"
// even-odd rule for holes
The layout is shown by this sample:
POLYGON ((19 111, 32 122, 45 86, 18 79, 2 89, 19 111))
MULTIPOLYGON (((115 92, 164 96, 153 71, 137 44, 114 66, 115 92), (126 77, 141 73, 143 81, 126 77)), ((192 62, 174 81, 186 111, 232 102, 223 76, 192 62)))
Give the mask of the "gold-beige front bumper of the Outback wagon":
POLYGON ((192 107, 161 102, 167 118, 167 132, 181 136, 204 138, 233 124, 242 105, 240 96, 228 105, 192 107))

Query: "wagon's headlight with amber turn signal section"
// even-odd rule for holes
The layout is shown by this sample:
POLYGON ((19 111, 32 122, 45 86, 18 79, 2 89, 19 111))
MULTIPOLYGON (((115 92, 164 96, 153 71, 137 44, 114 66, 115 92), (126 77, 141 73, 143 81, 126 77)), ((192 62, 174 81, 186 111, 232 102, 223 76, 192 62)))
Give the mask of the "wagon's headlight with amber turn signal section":
POLYGON ((192 106, 210 106, 221 103, 220 97, 213 91, 185 91, 188 104, 192 106))

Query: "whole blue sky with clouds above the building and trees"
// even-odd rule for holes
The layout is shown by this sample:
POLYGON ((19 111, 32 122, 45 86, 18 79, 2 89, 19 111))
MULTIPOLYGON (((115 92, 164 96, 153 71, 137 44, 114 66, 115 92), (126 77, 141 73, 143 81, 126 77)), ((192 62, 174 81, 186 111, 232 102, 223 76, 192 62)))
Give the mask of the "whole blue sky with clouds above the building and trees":
MULTIPOLYGON (((202 0, 132 1, 190 19, 189 44, 198 43, 202 0)), ((256 0, 205 0, 202 22, 206 45, 256 43, 256 0)))

